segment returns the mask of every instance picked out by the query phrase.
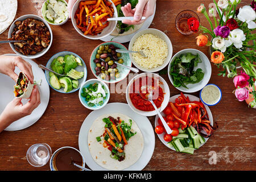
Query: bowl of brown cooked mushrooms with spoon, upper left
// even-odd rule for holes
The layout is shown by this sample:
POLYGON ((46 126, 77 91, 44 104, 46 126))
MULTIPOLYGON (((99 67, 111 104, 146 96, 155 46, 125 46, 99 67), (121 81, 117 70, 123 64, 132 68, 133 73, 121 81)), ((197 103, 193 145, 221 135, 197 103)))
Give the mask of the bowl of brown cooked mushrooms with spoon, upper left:
POLYGON ((9 43, 11 49, 28 59, 43 56, 51 47, 52 39, 51 27, 36 15, 20 16, 11 24, 8 33, 8 40, 19 40, 9 43))

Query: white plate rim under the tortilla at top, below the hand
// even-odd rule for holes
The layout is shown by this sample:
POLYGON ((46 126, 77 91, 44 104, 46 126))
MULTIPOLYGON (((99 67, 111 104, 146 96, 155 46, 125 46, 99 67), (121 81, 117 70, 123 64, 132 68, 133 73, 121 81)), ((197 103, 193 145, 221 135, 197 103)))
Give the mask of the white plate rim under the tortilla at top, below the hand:
POLYGON ((109 36, 106 36, 105 38, 102 38, 100 40, 104 41, 104 42, 108 42, 108 41, 114 41, 114 42, 119 42, 119 43, 126 43, 126 42, 129 42, 131 40, 131 38, 133 38, 133 36, 138 32, 138 31, 141 31, 141 30, 144 30, 148 27, 150 27, 153 19, 154 19, 154 16, 155 16, 155 10, 156 10, 156 5, 155 5, 155 9, 154 9, 154 14, 152 14, 151 16, 149 16, 145 22, 143 23, 142 27, 139 28, 139 30, 133 32, 133 34, 129 34, 129 35, 123 35, 123 36, 113 36, 113 35, 109 35, 109 36))

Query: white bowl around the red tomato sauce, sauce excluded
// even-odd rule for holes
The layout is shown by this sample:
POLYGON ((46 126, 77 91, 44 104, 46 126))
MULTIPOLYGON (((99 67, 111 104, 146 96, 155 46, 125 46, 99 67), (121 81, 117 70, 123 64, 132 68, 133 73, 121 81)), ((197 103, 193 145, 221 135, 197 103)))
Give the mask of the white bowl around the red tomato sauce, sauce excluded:
POLYGON ((142 111, 137 109, 136 107, 134 107, 133 103, 131 102, 130 96, 129 96, 129 90, 130 90, 130 86, 133 84, 134 80, 137 80, 138 78, 141 77, 153 77, 153 78, 159 78, 159 83, 162 82, 162 84, 159 84, 161 86, 161 88, 163 89, 164 94, 164 100, 162 102, 162 105, 160 106, 159 111, 162 112, 166 106, 168 105, 169 102, 169 98, 170 98, 170 89, 169 86, 166 82, 166 80, 164 80, 164 78, 162 78, 161 76, 155 74, 155 73, 141 73, 137 76, 135 76, 133 79, 131 79, 131 81, 129 82, 129 84, 127 85, 126 88, 126 101, 128 103, 128 105, 131 107, 131 109, 133 109, 136 113, 141 114, 141 115, 145 115, 145 116, 152 116, 152 115, 156 115, 156 111, 142 111))

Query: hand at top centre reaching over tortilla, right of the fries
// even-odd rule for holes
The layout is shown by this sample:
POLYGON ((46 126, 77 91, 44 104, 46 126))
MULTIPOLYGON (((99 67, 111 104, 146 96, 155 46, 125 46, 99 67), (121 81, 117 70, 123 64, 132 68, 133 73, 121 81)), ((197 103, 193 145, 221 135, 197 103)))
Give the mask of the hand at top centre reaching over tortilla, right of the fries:
POLYGON ((124 19, 122 23, 125 24, 141 24, 144 20, 141 20, 142 16, 145 16, 146 19, 154 14, 156 0, 139 0, 135 9, 131 9, 131 4, 127 3, 127 5, 121 7, 123 11, 123 15, 125 16, 134 16, 134 20, 124 19))

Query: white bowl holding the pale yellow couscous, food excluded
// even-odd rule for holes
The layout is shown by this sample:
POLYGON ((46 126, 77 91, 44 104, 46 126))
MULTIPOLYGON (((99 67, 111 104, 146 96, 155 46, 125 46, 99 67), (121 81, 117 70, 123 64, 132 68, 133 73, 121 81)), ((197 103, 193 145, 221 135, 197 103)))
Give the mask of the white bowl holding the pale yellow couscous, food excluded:
POLYGON ((141 71, 143 72, 158 72, 161 69, 163 69, 164 67, 167 66, 167 64, 170 62, 171 57, 172 57, 172 43, 171 40, 168 38, 168 36, 166 34, 164 34, 164 32, 154 29, 154 28, 147 28, 145 30, 139 31, 137 32, 137 34, 135 34, 133 36, 133 38, 131 38, 131 41, 129 43, 129 50, 132 51, 133 50, 133 45, 135 43, 135 41, 137 40, 137 38, 143 34, 153 34, 158 36, 159 38, 163 39, 168 47, 168 55, 166 57, 166 60, 164 60, 164 63, 162 65, 159 65, 159 67, 156 68, 152 68, 152 69, 147 69, 142 67, 141 65, 139 65, 134 59, 133 59, 133 55, 132 53, 129 53, 130 59, 133 62, 133 64, 135 65, 135 67, 137 67, 138 69, 141 69, 141 71))

